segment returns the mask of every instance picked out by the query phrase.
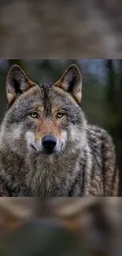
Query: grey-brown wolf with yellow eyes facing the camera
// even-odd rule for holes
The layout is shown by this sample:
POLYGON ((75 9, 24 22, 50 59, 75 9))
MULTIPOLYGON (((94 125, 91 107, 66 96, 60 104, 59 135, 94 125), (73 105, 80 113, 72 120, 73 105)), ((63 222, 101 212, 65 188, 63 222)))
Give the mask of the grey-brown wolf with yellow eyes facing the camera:
POLYGON ((0 128, 1 196, 118 195, 113 139, 88 124, 76 65, 56 82, 40 84, 13 65, 6 95, 0 128))

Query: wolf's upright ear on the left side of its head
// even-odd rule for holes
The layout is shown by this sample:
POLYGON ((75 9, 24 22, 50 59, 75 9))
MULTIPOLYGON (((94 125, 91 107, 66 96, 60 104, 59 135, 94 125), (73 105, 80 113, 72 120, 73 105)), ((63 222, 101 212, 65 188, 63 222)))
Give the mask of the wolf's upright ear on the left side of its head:
POLYGON ((13 65, 11 69, 9 69, 6 78, 6 94, 9 104, 17 98, 17 95, 22 94, 34 85, 35 83, 25 75, 19 65, 13 65))

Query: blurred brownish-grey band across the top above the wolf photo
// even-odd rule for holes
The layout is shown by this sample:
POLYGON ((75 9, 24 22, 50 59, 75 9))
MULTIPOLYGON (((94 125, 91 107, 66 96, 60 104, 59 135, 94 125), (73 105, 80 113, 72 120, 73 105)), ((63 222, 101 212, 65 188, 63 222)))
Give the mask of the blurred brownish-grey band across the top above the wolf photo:
POLYGON ((121 0, 1 0, 1 58, 122 58, 121 0))

